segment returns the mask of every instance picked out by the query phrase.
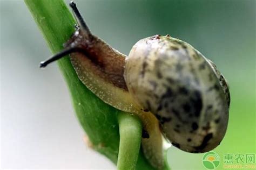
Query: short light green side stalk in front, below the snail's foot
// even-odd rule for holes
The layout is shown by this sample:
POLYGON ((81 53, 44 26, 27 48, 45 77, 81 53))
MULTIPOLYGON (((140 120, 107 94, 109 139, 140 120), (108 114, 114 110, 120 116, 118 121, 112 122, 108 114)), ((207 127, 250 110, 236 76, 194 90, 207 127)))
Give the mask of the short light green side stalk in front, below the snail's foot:
POLYGON ((135 169, 142 140, 142 123, 138 117, 126 113, 118 115, 118 123, 120 144, 117 169, 135 169))

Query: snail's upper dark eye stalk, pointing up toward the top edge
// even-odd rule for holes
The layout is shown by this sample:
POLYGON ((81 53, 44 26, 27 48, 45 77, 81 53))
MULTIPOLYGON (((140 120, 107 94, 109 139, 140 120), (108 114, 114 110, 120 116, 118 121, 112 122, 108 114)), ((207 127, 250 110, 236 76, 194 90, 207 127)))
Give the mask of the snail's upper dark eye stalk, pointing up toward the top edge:
POLYGON ((73 10, 73 14, 77 20, 77 23, 80 27, 80 29, 86 34, 86 35, 91 35, 91 31, 89 30, 89 27, 86 25, 83 17, 80 15, 80 12, 77 9, 77 5, 75 2, 71 1, 69 3, 69 6, 72 8, 73 10))

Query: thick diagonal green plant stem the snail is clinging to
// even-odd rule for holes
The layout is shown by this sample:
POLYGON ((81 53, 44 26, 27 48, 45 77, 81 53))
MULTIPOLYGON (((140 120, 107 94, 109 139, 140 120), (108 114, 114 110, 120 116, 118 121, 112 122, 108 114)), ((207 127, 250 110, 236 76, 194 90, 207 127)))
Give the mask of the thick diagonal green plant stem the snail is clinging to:
MULTIPOLYGON (((63 43, 66 42, 75 31, 75 19, 71 15, 64 1, 24 1, 39 29, 43 33, 52 53, 59 52, 63 49, 63 43)), ((133 140, 136 142, 130 140, 130 144, 127 142, 125 143, 123 140, 127 138, 127 134, 124 134, 124 132, 128 133, 127 130, 125 130, 128 125, 126 119, 133 124, 134 129, 137 127, 138 130, 141 130, 141 124, 138 123, 138 120, 134 118, 129 119, 129 116, 131 115, 126 114, 126 116, 120 116, 118 124, 117 116, 123 114, 123 112, 104 103, 87 89, 82 82, 80 82, 68 56, 58 60, 58 66, 69 88, 72 104, 78 121, 89 138, 89 146, 99 153, 104 154, 107 158, 113 161, 114 164, 117 164, 119 153, 120 159, 118 164, 122 167, 129 162, 134 164, 136 157, 138 157, 136 169, 154 169, 149 162, 147 162, 142 149, 140 149, 139 155, 137 156, 141 138, 138 136, 138 133, 129 134, 130 139, 134 135, 133 140), (120 151, 119 126, 121 128, 120 135, 123 138, 120 144, 120 151), (134 149, 132 151, 127 150, 125 145, 134 149), (132 155, 131 159, 126 157, 126 155, 132 155)), ((48 69, 50 69, 50 67, 48 69)))

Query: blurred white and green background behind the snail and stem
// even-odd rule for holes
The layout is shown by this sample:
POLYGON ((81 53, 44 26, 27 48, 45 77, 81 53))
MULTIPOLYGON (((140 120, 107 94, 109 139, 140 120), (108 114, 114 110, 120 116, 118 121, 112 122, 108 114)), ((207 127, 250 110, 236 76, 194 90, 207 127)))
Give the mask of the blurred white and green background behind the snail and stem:
MULTIPOLYGON (((224 154, 255 154, 256 1, 76 2, 91 31, 120 52, 129 54, 139 39, 170 34, 215 62, 231 91, 227 133, 214 150, 217 169, 224 154)), ((0 20, 1 166, 114 168, 84 146, 56 64, 38 68, 51 53, 24 2, 1 0, 0 20)), ((172 169, 205 169, 203 154, 171 147, 167 156, 172 169)))

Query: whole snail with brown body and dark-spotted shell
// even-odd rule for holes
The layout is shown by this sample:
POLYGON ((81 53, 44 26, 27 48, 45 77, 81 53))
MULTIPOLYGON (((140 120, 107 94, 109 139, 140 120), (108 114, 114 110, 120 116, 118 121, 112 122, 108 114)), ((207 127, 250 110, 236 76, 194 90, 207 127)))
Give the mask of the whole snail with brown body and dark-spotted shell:
MULTIPOLYGON (((160 146, 160 132, 186 152, 207 152, 220 144, 228 124, 230 92, 212 61, 169 35, 139 40, 126 56, 93 35, 76 4, 70 6, 76 31, 63 51, 40 67, 70 54, 80 81, 105 103, 138 115, 144 138, 160 146)), ((146 140, 144 145, 146 152, 156 149, 147 148, 146 140)))

